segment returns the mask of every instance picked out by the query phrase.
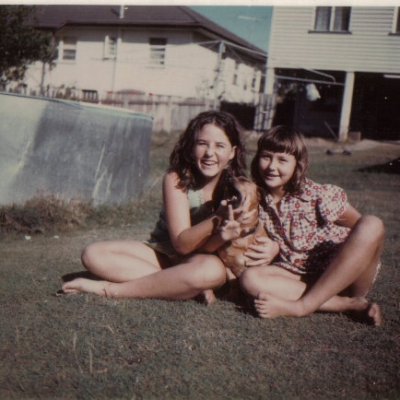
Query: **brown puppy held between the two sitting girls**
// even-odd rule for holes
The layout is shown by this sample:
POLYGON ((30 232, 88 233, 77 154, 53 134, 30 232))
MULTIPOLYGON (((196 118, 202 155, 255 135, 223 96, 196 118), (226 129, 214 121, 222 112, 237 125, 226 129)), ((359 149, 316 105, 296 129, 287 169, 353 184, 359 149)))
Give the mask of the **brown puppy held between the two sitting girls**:
POLYGON ((227 184, 231 186, 230 193, 234 193, 235 200, 230 201, 234 208, 244 206, 246 212, 255 210, 254 218, 246 225, 241 226, 241 236, 225 243, 218 249, 218 255, 225 266, 238 278, 247 268, 247 259, 244 255, 247 247, 251 244, 257 244, 255 238, 268 237, 268 233, 258 217, 260 194, 256 184, 244 177, 230 177, 227 184))

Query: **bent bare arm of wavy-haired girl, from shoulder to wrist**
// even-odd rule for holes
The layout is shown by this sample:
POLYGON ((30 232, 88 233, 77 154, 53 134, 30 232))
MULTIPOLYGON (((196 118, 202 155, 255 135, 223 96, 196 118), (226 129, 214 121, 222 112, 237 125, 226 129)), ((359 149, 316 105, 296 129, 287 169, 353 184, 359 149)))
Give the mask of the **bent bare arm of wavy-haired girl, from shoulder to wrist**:
POLYGON ((163 181, 164 209, 172 245, 180 254, 189 254, 204 246, 220 218, 211 216, 191 226, 189 202, 184 189, 177 187, 178 177, 167 173, 163 181))

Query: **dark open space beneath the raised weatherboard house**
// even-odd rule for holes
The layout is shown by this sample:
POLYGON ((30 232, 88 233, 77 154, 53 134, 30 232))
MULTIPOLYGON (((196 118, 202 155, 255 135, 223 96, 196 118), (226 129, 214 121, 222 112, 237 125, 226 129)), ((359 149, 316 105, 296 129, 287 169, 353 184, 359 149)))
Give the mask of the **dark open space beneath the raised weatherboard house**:
POLYGON ((310 137, 340 140, 341 118, 350 112, 347 138, 400 139, 400 79, 397 75, 355 72, 349 104, 344 104, 346 72, 276 71, 272 125, 287 124, 310 137), (318 96, 310 100, 314 85, 318 96), (345 108, 345 110, 344 110, 345 108))

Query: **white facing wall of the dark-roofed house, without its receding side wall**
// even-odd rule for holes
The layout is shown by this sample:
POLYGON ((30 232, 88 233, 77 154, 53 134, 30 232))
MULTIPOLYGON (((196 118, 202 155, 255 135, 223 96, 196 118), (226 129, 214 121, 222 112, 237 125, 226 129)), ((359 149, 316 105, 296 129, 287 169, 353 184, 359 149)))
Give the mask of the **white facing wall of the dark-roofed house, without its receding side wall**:
MULTIPOLYGON (((100 94, 136 89, 147 93, 193 96, 202 82, 207 81, 210 86, 214 77, 216 52, 190 44, 189 32, 121 29, 118 33, 112 28, 95 30, 67 27, 59 31, 57 36, 77 39, 76 60, 57 60, 56 68, 48 75, 51 86, 92 89, 100 94), (104 57, 106 35, 121 37, 117 59, 104 57), (165 37, 168 40, 165 66, 162 68, 149 66, 148 41, 151 37, 165 37)), ((40 63, 36 70, 36 75, 39 75, 40 63)))

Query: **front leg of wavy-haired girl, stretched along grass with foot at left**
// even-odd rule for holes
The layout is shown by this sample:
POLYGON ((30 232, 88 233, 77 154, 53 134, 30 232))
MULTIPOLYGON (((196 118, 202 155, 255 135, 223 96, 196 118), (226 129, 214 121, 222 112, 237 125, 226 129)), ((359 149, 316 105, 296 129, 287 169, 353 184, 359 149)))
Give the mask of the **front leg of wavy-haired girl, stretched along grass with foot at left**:
POLYGON ((126 282, 79 278, 63 286, 67 293, 87 292, 108 297, 187 300, 224 284, 223 263, 213 255, 198 254, 175 267, 158 270, 126 282))

